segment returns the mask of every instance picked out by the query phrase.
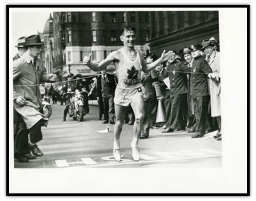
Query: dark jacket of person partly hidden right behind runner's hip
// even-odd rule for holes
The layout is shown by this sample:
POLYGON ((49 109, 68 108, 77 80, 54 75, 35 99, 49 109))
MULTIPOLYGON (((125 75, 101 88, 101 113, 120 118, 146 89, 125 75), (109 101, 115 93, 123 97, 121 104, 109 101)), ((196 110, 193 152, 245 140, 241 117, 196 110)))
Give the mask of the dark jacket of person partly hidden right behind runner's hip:
POLYGON ((144 101, 154 100, 154 90, 156 91, 157 97, 163 96, 159 80, 157 78, 157 71, 155 71, 155 69, 152 69, 149 73, 141 72, 141 84, 144 87, 144 101))

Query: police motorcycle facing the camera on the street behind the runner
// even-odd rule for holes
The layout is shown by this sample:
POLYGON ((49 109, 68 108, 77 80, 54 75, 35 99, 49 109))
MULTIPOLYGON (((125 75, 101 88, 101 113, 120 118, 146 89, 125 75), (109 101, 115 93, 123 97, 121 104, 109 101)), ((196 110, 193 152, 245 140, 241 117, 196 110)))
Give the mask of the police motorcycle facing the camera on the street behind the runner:
POLYGON ((67 91, 66 94, 71 94, 70 106, 68 107, 68 114, 73 117, 74 120, 83 121, 83 116, 86 112, 83 111, 83 98, 80 91, 77 89, 75 92, 67 91))

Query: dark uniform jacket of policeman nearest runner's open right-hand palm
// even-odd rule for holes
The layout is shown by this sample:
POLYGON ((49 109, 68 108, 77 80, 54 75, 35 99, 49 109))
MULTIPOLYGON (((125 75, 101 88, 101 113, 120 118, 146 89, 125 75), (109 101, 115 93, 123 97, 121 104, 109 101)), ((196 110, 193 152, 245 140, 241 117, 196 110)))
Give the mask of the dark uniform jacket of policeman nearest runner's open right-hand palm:
POLYGON ((167 69, 170 79, 170 97, 186 94, 188 92, 186 73, 191 69, 177 60, 168 64, 167 69))

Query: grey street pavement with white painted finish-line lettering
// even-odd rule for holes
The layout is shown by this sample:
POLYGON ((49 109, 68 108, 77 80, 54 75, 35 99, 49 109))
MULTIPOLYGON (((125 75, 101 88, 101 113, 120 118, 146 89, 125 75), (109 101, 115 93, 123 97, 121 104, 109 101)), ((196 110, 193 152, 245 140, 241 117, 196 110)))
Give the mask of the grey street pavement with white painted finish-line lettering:
POLYGON ((150 129, 150 137, 139 141, 140 161, 131 157, 133 125, 124 125, 120 137, 122 161, 113 159, 114 125, 98 121, 98 109, 90 106, 83 121, 67 114, 62 122, 63 105, 51 105, 52 114, 38 147, 44 156, 28 163, 15 161, 15 168, 221 168, 221 141, 191 139, 186 131, 161 133, 150 129), (109 127, 111 132, 96 131, 109 127))

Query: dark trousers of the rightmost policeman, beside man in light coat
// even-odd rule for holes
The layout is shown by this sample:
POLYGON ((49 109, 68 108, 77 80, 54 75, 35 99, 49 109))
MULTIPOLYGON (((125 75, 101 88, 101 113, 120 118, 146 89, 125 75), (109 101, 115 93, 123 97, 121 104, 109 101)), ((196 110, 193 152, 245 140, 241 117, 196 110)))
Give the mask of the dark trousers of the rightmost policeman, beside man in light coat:
POLYGON ((198 98, 193 98, 194 107, 195 107, 195 119, 196 119, 196 128, 195 134, 200 136, 205 135, 206 130, 206 117, 207 117, 207 107, 209 96, 202 96, 198 98))

